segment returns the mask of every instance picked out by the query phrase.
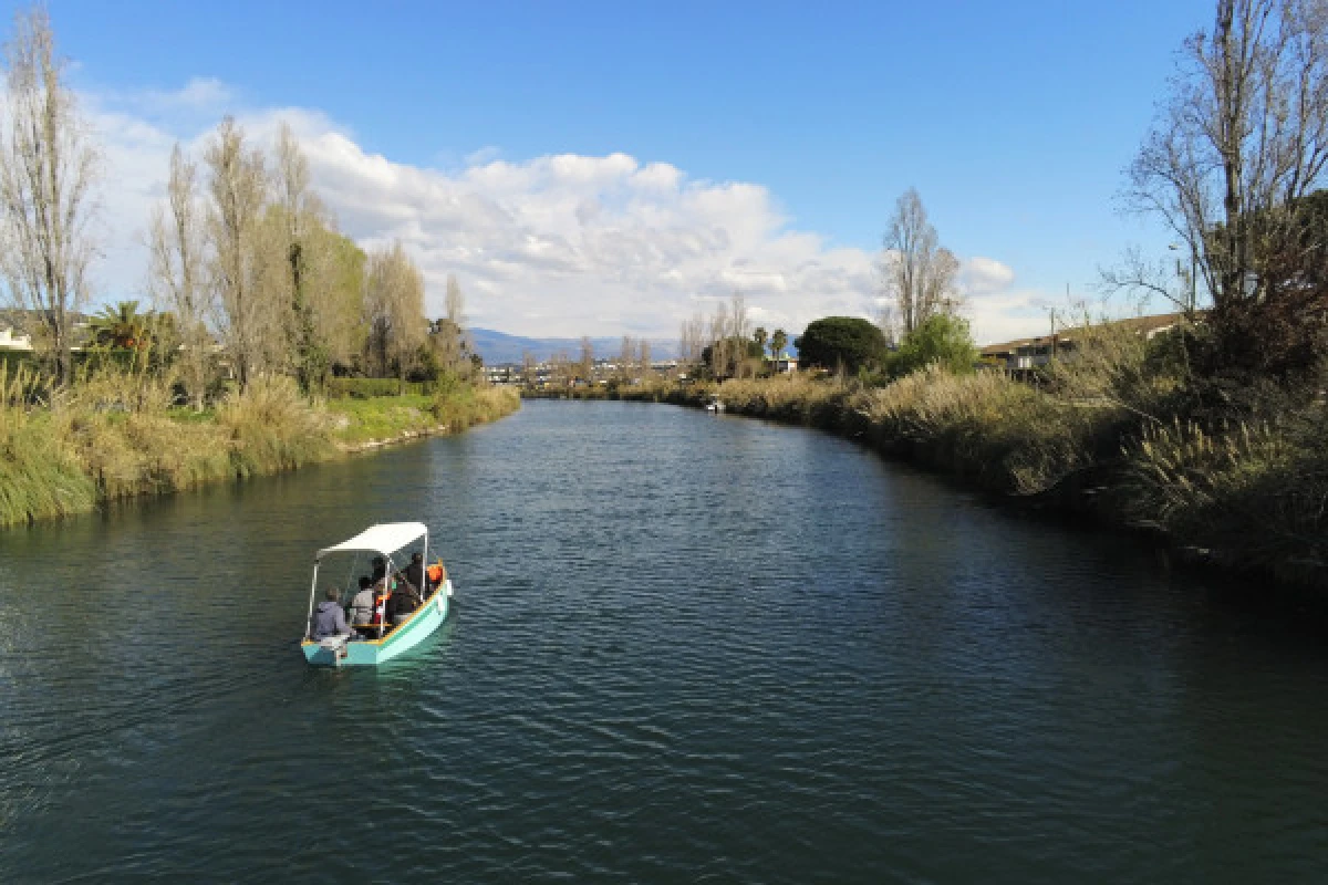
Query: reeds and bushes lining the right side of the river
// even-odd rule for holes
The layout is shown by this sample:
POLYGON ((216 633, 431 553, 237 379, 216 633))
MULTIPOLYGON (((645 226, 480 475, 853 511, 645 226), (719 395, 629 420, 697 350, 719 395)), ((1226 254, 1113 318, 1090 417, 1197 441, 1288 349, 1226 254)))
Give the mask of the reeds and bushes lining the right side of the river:
MULTIPOLYGON (((950 338, 961 324, 944 328, 942 341, 963 344, 950 338)), ((1153 338, 1086 324, 1074 340, 1037 383, 975 372, 965 358, 883 386, 794 373, 608 395, 691 406, 718 397, 730 413, 822 427, 999 495, 1157 532, 1195 559, 1328 586, 1328 361, 1232 383, 1195 369, 1220 346, 1211 324, 1153 338)))

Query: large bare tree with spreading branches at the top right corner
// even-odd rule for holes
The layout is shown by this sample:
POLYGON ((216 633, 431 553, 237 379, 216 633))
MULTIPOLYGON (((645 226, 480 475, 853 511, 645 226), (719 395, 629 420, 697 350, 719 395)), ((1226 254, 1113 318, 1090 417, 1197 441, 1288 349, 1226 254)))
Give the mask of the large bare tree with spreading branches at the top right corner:
MULTIPOLYGON (((1219 309, 1275 295, 1271 256, 1323 245, 1301 241, 1287 210, 1324 184, 1325 73, 1323 0, 1218 0, 1212 32, 1185 44, 1127 198, 1181 238, 1219 309)), ((1147 280, 1117 283, 1135 277, 1147 280)))

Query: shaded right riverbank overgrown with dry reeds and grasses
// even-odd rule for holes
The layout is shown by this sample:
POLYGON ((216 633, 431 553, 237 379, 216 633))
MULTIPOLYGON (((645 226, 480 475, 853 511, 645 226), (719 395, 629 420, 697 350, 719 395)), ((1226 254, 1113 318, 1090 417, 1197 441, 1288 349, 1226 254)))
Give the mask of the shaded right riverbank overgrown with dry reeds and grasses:
POLYGON ((1092 366, 1074 372, 1044 389, 930 370, 884 387, 780 375, 606 395, 692 407, 718 398, 729 413, 851 437, 1023 506, 1145 532, 1190 564, 1328 589, 1321 403, 1279 407, 1266 394, 1263 414, 1204 427, 1166 413, 1174 386, 1133 378, 1141 389, 1125 393, 1089 383, 1092 366))

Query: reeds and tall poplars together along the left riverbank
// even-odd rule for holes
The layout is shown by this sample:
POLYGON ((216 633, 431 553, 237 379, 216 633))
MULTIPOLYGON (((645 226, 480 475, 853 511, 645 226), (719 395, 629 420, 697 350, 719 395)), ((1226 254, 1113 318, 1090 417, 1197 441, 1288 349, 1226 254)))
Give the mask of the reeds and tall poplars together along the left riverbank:
POLYGON ((0 354, 0 525, 295 470, 518 407, 482 386, 456 279, 448 318, 429 322, 418 267, 400 243, 365 253, 336 230, 287 126, 274 151, 230 118, 202 163, 175 147, 149 226, 157 306, 105 306, 81 333, 93 130, 44 8, 17 16, 9 49, 0 235, 13 248, 0 269, 5 320, 36 350, 0 354))

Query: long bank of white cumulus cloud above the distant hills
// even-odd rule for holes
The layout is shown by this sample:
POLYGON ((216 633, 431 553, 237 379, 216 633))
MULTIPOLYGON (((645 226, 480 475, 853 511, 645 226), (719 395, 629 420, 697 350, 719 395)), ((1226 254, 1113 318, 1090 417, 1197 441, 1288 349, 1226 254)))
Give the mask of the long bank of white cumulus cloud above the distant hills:
MULTIPOLYGON (((171 145, 179 139, 201 154, 232 102, 207 80, 137 103, 124 96, 89 102, 108 162, 106 300, 141 289, 142 231, 163 194, 171 145), (179 113, 169 113, 173 102, 179 113), (212 117, 199 122, 199 107, 212 117)), ((283 119, 291 123, 341 228, 365 247, 400 239, 414 255, 430 313, 442 312, 449 273, 474 325, 539 336, 672 336, 683 318, 734 291, 762 324, 795 332, 819 316, 867 316, 878 295, 872 253, 794 230, 761 184, 692 179, 622 153, 511 162, 485 149, 444 171, 368 153, 351 130, 308 109, 235 117, 266 143, 283 119)), ((964 263, 979 329, 992 310, 1019 308, 992 297, 1013 279, 995 259, 964 263)))

